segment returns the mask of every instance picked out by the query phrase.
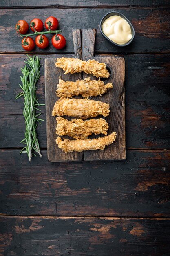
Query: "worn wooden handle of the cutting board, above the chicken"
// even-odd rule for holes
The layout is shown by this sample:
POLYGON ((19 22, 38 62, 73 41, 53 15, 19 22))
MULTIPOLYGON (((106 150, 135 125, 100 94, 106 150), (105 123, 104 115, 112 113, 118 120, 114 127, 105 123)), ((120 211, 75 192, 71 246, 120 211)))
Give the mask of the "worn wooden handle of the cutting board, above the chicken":
POLYGON ((73 29, 73 45, 76 58, 88 61, 95 52, 96 29, 73 29))

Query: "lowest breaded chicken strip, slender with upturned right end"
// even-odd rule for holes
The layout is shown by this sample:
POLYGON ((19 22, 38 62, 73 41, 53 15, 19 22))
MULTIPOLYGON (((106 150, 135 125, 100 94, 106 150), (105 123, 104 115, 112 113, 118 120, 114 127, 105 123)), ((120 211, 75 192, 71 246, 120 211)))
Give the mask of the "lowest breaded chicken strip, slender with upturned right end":
POLYGON ((116 132, 112 132, 110 135, 106 135, 103 138, 98 139, 61 139, 59 136, 56 139, 56 143, 59 148, 64 152, 82 152, 85 150, 104 150, 105 146, 110 145, 116 139, 116 132))

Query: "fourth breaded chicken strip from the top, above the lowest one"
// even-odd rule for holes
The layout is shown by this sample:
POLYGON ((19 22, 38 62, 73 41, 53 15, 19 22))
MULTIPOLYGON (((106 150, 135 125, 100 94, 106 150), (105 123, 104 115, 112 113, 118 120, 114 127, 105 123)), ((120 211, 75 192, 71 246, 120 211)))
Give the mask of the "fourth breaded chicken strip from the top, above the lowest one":
POLYGON ((72 119, 68 121, 63 117, 57 117, 56 134, 63 136, 68 135, 75 139, 87 139, 92 133, 96 134, 107 134, 108 123, 106 120, 99 119, 72 119))

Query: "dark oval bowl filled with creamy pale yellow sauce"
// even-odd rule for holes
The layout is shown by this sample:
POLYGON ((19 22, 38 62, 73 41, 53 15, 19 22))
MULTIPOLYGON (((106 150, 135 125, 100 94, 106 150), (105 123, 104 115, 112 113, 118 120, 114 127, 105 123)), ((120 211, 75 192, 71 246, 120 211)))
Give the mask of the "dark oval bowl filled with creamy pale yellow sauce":
POLYGON ((105 38, 115 45, 128 45, 135 31, 130 21, 121 13, 107 13, 100 22, 100 30, 105 38))

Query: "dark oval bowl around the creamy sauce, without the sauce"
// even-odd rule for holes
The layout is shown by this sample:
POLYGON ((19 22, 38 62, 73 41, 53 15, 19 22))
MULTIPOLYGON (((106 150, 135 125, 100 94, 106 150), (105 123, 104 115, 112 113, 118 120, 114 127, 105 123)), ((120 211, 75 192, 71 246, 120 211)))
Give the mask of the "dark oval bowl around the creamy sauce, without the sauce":
POLYGON ((117 45, 117 46, 126 46, 126 45, 129 45, 129 44, 132 42, 132 40, 133 40, 133 38, 134 38, 134 36, 135 36, 135 30, 134 30, 134 27, 132 26, 131 22, 130 22, 123 14, 119 13, 118 11, 111 11, 111 12, 107 13, 107 14, 102 18, 99 27, 100 27, 100 31, 101 31, 102 35, 103 35, 107 40, 109 40, 111 43, 113 43, 114 45, 117 45), (130 28, 131 28, 131 31, 132 31, 132 38, 131 38, 127 43, 125 43, 125 44, 123 44, 123 45, 119 45, 119 44, 113 42, 113 41, 110 40, 110 39, 103 33, 103 31, 102 31, 103 22, 104 22, 107 18, 109 18, 110 16, 113 16, 113 15, 118 15, 118 16, 120 16, 121 18, 124 18, 124 19, 128 22, 128 24, 130 25, 130 28))

